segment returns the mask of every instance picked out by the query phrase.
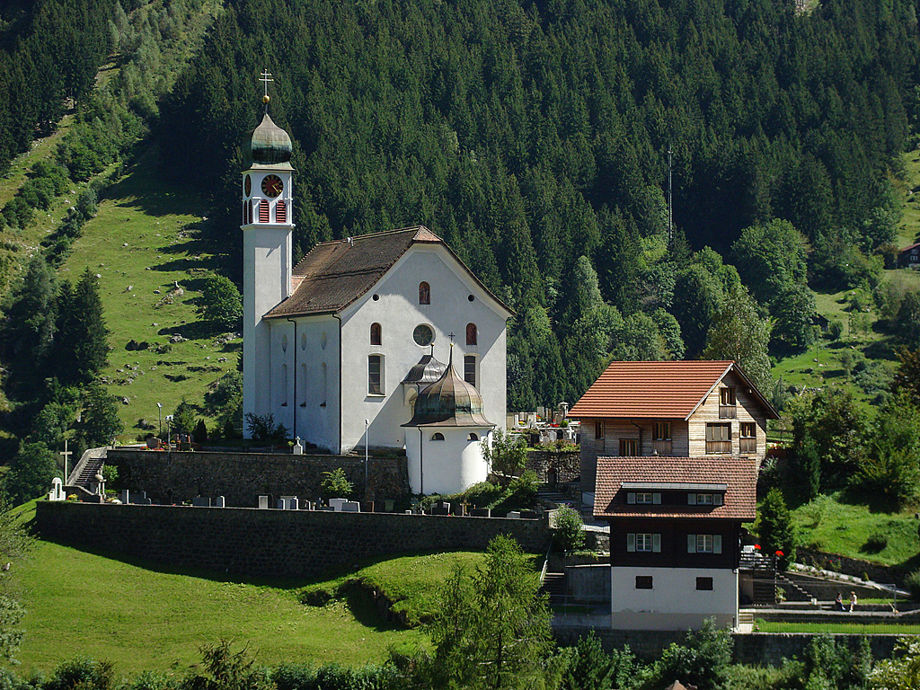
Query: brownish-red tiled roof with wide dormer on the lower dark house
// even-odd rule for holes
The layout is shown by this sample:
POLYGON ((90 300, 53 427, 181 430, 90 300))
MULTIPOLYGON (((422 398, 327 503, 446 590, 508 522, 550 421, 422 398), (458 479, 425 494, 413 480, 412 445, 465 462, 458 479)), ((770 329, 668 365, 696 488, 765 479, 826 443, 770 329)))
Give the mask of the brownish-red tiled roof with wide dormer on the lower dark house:
POLYGON ((757 465, 747 457, 599 457, 594 487, 597 517, 726 518, 753 521, 756 517, 757 465), (720 506, 628 504, 624 482, 725 484, 720 506))

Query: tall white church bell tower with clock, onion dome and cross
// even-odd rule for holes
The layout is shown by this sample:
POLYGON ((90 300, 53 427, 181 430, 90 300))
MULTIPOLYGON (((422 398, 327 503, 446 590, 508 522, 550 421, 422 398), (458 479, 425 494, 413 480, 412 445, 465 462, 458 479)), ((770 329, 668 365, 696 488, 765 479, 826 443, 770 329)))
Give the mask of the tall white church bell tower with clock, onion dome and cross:
POLYGON ((269 324, 262 316, 291 295, 293 167, 291 137, 265 114, 249 137, 243 172, 243 412, 270 412, 269 324))

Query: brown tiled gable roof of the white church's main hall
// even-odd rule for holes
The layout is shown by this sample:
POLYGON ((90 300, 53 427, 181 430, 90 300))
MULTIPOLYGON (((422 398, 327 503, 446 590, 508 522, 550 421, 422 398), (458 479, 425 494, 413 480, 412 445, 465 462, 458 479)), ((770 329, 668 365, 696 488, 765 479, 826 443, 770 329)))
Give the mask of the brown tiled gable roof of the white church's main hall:
POLYGON ((337 312, 374 287, 414 244, 443 246, 490 297, 508 309, 466 268, 441 237, 423 225, 416 225, 316 245, 293 267, 293 294, 265 317, 337 312))

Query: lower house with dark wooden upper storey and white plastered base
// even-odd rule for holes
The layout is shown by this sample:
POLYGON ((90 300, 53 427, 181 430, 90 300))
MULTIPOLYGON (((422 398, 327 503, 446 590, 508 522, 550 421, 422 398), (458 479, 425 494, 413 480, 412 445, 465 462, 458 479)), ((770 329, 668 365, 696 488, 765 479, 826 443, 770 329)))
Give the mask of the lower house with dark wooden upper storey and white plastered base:
POLYGON ((610 523, 611 627, 737 626, 756 482, 753 457, 601 457, 594 516, 610 523))

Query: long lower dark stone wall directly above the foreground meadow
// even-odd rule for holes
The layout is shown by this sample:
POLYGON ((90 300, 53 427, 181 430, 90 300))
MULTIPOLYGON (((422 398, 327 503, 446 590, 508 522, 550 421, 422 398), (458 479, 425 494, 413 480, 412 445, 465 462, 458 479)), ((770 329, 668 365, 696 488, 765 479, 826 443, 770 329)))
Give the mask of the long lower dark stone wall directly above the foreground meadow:
POLYGON ((244 577, 313 577, 364 558, 484 550, 496 535, 546 552, 546 518, 280 511, 39 501, 42 538, 244 577))

